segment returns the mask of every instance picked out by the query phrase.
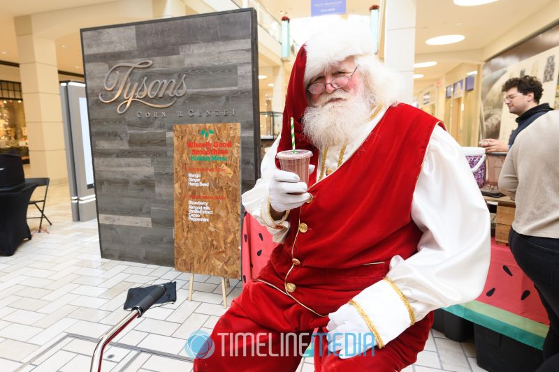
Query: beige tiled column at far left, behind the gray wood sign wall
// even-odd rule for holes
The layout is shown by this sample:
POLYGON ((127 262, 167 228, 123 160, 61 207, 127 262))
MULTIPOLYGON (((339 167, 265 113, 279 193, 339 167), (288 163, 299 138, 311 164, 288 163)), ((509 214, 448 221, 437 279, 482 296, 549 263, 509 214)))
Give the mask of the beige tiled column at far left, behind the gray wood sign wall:
POLYGON ((55 40, 34 34, 32 15, 14 18, 29 141, 28 177, 68 181, 55 40))

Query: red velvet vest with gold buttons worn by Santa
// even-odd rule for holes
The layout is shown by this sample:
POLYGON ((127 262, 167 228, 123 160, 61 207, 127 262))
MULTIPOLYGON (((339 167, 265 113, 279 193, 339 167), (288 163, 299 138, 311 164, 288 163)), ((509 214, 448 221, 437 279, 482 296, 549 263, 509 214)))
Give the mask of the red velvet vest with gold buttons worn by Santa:
POLYGON ((393 256, 416 253, 412 199, 437 123, 412 106, 390 107, 340 168, 316 182, 317 169, 312 200, 291 210, 289 236, 260 278, 326 315, 382 279, 393 256))

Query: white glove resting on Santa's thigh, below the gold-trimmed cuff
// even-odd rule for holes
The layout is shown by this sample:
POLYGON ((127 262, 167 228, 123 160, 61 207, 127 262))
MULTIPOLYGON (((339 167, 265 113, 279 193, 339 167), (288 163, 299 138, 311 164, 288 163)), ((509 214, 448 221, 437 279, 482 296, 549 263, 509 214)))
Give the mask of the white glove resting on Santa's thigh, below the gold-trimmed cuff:
POLYGON ((328 314, 328 350, 337 351, 341 359, 364 355, 377 345, 365 320, 354 306, 344 304, 334 313, 328 314))

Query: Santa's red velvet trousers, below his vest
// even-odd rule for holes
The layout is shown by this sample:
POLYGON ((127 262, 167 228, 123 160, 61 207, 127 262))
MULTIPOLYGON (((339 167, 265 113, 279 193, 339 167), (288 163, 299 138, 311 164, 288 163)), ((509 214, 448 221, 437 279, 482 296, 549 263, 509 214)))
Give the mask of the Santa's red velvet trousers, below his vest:
POLYGON ((340 359, 328 352, 328 317, 320 317, 266 283, 248 283, 231 308, 215 325, 212 355, 196 359, 195 372, 296 371, 314 329, 315 371, 400 371, 416 361, 433 325, 433 313, 416 322, 384 348, 365 355, 340 359), (289 336, 286 334, 289 332, 289 336), (320 348, 320 345, 322 348, 320 348))

